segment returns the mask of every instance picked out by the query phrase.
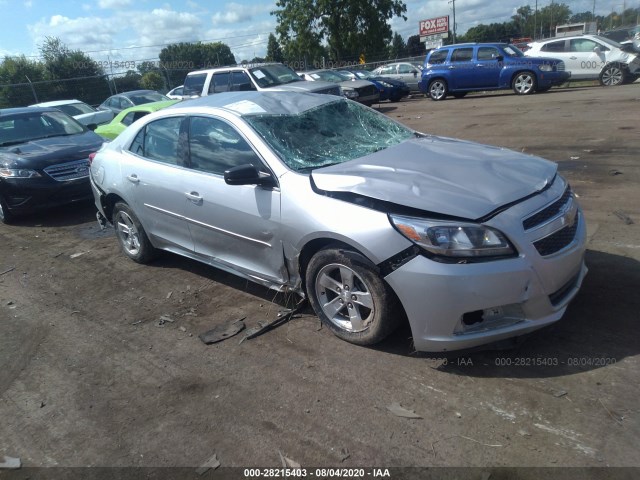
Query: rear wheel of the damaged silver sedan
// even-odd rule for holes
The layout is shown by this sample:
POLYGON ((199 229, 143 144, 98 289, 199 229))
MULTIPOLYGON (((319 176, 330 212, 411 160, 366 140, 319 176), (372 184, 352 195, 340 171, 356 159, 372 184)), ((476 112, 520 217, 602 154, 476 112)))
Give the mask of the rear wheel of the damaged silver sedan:
POLYGON ((149 263, 157 256, 147 233, 133 210, 124 202, 113 207, 113 226, 122 252, 137 263, 149 263))

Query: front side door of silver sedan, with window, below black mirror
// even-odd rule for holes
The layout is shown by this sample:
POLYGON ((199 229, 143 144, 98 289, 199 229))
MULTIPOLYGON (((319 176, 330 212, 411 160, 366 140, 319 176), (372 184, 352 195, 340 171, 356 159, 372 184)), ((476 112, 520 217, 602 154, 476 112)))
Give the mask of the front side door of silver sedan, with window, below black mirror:
POLYGON ((185 217, 195 251, 270 282, 286 281, 279 189, 224 181, 225 170, 239 165, 268 171, 245 137, 226 120, 193 116, 189 158, 185 217))

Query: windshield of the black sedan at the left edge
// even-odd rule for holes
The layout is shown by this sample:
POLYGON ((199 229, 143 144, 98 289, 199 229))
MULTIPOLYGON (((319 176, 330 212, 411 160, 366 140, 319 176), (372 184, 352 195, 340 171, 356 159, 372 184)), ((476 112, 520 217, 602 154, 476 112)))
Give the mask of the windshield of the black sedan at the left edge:
POLYGON ((85 128, 62 112, 38 112, 2 117, 0 146, 82 133, 85 128))

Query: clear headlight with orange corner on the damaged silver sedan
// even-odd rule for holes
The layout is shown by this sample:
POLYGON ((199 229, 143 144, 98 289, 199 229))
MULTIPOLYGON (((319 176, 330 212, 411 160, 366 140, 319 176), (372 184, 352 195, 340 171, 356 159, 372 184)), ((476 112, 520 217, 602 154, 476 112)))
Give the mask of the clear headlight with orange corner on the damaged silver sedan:
POLYGON ((402 235, 429 253, 443 257, 502 257, 516 252, 506 237, 477 223, 447 222, 389 215, 402 235))

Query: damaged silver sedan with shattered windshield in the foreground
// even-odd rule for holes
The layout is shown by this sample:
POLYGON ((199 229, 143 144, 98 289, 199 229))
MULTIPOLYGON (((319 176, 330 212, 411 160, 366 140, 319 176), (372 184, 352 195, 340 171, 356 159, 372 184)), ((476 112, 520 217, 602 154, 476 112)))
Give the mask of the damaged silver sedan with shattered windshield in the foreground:
POLYGON ((559 320, 587 272, 556 164, 330 95, 178 103, 105 145, 91 182, 132 260, 168 250, 307 296, 360 345, 405 320, 422 351, 519 336, 559 320))

